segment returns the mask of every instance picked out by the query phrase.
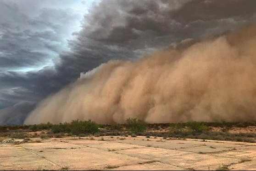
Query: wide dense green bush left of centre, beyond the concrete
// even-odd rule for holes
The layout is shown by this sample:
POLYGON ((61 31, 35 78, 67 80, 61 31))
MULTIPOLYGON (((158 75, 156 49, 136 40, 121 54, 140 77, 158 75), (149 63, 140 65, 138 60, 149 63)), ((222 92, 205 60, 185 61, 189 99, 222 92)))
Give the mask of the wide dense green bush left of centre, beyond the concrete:
POLYGON ((99 125, 95 122, 89 121, 72 121, 71 123, 71 134, 79 135, 79 134, 95 134, 98 133, 99 125))

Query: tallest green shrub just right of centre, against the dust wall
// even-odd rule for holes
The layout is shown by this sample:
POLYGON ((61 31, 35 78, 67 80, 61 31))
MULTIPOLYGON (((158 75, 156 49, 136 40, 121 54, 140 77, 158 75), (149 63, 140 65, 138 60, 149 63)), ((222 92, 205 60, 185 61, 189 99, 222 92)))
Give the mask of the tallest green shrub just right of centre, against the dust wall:
POLYGON ((133 134, 143 133, 146 130, 146 124, 136 118, 128 118, 126 120, 126 128, 133 134))

